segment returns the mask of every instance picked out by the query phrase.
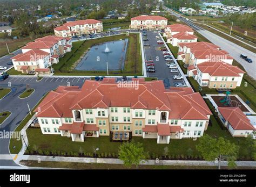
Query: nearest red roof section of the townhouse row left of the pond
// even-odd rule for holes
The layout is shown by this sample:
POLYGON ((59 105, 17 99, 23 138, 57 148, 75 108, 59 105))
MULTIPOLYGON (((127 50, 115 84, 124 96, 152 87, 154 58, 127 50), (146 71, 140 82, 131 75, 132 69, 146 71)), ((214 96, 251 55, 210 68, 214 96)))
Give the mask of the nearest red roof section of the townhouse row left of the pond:
POLYGON ((14 61, 32 61, 32 62, 35 62, 39 59, 43 59, 45 56, 48 56, 50 55, 50 53, 47 53, 47 52, 44 52, 40 49, 31 49, 30 51, 28 52, 25 52, 25 53, 22 53, 22 54, 18 54, 14 57, 11 57, 12 60, 14 61))

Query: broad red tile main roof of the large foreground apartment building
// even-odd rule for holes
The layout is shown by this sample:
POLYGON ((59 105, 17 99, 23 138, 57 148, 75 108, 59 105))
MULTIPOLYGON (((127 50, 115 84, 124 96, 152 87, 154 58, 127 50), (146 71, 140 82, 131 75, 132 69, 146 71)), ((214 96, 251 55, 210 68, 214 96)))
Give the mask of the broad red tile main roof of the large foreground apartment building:
POLYGON ((207 119, 211 114, 200 94, 193 93, 191 88, 165 89, 163 81, 139 81, 134 88, 124 88, 114 81, 114 78, 100 82, 86 80, 81 89, 58 87, 38 106, 41 112, 37 116, 72 117, 71 110, 111 106, 170 111, 169 119, 207 119), (194 110, 190 114, 191 109, 194 110))

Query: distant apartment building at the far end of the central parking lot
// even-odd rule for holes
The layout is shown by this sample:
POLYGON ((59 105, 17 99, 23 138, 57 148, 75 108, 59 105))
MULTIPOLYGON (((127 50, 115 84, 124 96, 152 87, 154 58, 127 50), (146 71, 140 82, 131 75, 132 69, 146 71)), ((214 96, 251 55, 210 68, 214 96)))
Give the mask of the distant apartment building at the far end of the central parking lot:
POLYGON ((131 29, 161 30, 167 26, 167 19, 162 16, 137 16, 131 18, 131 29))

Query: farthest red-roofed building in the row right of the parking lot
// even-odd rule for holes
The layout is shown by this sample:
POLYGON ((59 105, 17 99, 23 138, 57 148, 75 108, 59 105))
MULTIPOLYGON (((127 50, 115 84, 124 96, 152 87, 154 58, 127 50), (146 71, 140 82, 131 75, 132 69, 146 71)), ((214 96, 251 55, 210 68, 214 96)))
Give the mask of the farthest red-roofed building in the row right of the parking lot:
POLYGON ((178 46, 179 43, 197 42, 197 37, 191 27, 183 24, 167 25, 165 33, 167 43, 172 46, 178 46))

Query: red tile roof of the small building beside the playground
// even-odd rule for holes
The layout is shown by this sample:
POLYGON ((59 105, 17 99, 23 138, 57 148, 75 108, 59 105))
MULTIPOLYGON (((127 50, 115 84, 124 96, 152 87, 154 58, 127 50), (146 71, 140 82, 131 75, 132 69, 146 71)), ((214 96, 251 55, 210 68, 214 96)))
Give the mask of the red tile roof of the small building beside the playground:
POLYGON ((256 130, 239 107, 218 107, 218 110, 234 130, 256 130))

